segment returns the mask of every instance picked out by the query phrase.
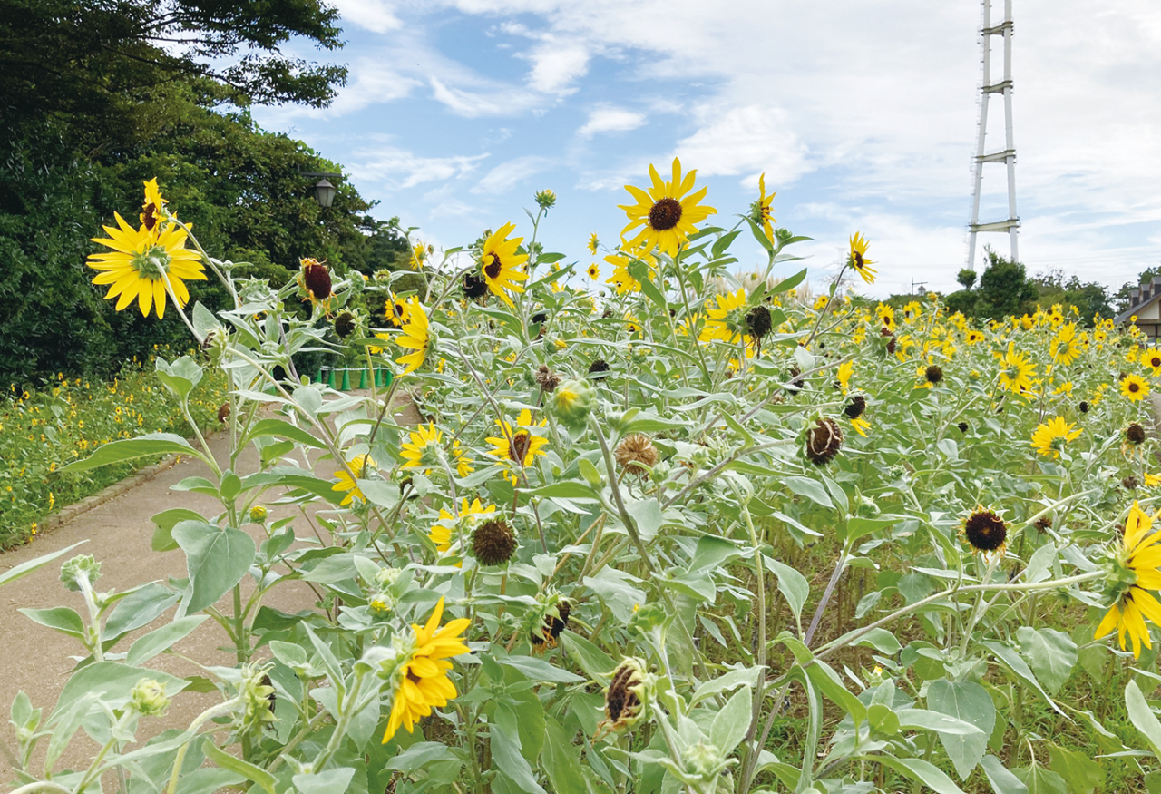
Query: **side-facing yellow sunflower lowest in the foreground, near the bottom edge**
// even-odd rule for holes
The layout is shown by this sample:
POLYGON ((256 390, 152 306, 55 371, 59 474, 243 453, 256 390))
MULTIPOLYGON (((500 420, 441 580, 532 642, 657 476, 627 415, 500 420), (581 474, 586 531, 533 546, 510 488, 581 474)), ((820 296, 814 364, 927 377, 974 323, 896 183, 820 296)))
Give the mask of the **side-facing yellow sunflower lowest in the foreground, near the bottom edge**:
POLYGON ((397 677, 399 686, 395 691, 395 702, 391 705, 391 716, 387 721, 387 732, 383 744, 391 741, 399 727, 412 732, 419 720, 430 715, 433 707, 444 708, 447 701, 459 693, 447 677, 452 669, 449 658, 470 654, 471 649, 463 644, 462 633, 471 625, 467 618, 449 620, 440 627, 444 616, 444 599, 440 598, 435 611, 420 628, 411 625, 416 633, 414 650, 408 661, 399 665, 397 677))

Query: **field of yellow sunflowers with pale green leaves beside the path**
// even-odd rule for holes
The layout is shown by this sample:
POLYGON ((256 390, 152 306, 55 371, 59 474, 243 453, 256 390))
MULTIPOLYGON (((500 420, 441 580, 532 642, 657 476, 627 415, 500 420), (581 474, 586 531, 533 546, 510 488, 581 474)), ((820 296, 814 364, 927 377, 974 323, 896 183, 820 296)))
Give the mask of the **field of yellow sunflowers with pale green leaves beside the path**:
POLYGON ((147 185, 95 281, 181 315, 200 352, 159 381, 187 405, 224 374, 233 452, 150 433, 64 467, 188 455, 221 508, 153 519, 187 580, 101 592, 78 556, 87 613, 29 611, 82 661, 49 716, 14 703, 16 792, 1161 792, 1161 351, 1062 306, 875 306, 844 281, 890 267, 861 233, 810 297, 764 181, 729 223, 676 160, 627 190, 615 247, 545 251, 545 190, 418 246, 397 293, 313 259, 237 279, 147 185), (205 277, 233 309, 190 301, 205 277), (311 351, 375 376, 336 391, 311 351), (313 609, 266 604, 301 582, 313 609), (156 619, 131 645, 129 604, 156 619), (208 620, 233 666, 158 669, 208 620), (100 752, 53 768, 78 731, 100 752))

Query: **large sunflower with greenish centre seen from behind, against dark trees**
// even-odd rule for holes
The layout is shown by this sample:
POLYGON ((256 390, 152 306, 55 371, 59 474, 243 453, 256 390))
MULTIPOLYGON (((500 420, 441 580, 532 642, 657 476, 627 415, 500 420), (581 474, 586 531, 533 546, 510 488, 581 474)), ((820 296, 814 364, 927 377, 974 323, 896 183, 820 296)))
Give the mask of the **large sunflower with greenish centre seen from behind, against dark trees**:
MULTIPOLYGON (((168 226, 161 231, 150 231, 145 226, 134 229, 124 218, 114 214, 117 228, 103 226, 109 237, 94 237, 94 243, 113 251, 91 254, 88 266, 101 270, 94 284, 109 284, 107 298, 117 297, 116 310, 121 311, 134 298, 147 317, 157 306, 158 319, 165 316, 166 282, 170 294, 179 308, 189 303, 189 290, 183 281, 205 281, 202 264, 195 251, 186 248, 186 231, 168 226)), ((159 226, 154 226, 154 230, 159 226)))

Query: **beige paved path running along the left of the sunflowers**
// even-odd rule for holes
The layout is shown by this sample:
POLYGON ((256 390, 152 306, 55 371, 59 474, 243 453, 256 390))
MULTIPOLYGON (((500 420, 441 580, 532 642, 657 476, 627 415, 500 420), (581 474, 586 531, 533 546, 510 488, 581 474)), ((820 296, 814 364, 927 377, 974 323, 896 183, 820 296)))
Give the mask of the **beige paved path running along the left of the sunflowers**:
MULTIPOLYGON (((408 405, 404 414, 397 420, 414 421, 414 409, 408 405)), ((208 445, 217 460, 229 459, 229 435, 216 433, 208 439, 208 445)), ((239 474, 257 468, 254 459, 248 461, 243 456, 239 474)), ((317 474, 330 477, 333 469, 331 461, 318 467, 317 474)), ((212 517, 221 511, 221 504, 208 496, 192 492, 171 491, 170 488, 186 477, 207 476, 203 463, 197 460, 182 460, 160 471, 145 482, 125 490, 124 493, 84 512, 59 528, 45 533, 29 546, 0 555, 0 571, 14 568, 29 560, 68 547, 78 541, 87 541, 75 551, 53 561, 34 573, 0 587, 0 743, 15 751, 15 732, 8 723, 8 712, 16 693, 28 693, 36 708, 43 708, 48 716, 62 687, 68 679, 74 659, 84 652, 79 642, 68 638, 52 629, 34 623, 17 612, 21 607, 44 608, 70 606, 80 614, 86 614, 84 599, 79 593, 64 589, 59 580, 60 564, 72 554, 92 554, 101 562, 101 578, 96 584, 99 591, 124 590, 145 582, 165 582, 168 577, 187 576, 186 558, 180 550, 157 553, 151 548, 153 522, 151 517, 171 507, 182 506, 195 510, 203 515, 212 517)), ((276 495, 268 495, 273 500, 276 495)), ((289 507, 271 508, 271 519, 289 514, 289 507), (281 511, 281 512, 280 512, 281 511)), ((265 540, 261 527, 245 527, 257 541, 265 540)), ((305 519, 295 522, 300 537, 313 533, 307 526, 305 519)), ((248 586, 250 579, 243 580, 248 586)), ((228 596, 226 599, 230 597, 228 596)), ((225 599, 224 599, 225 600, 225 599)), ((315 593, 303 583, 293 582, 276 587, 264 601, 286 612, 312 608, 315 593)), ((223 605, 219 605, 223 606, 223 605)), ((229 611, 223 606, 224 611, 229 611)), ((172 619, 172 608, 149 627, 135 631, 113 649, 125 651, 132 641, 172 619)), ((145 666, 165 670, 175 676, 188 676, 197 672, 197 667, 182 659, 188 657, 202 664, 232 665, 235 657, 219 650, 229 644, 225 631, 211 619, 197 630, 174 647, 178 655, 165 654, 156 657, 145 666), (180 656, 179 656, 180 655, 180 656)), ((137 739, 144 742, 168 728, 187 728, 190 721, 215 702, 221 702, 217 693, 182 694, 178 702, 170 707, 161 719, 143 719, 138 727, 137 739)), ((46 739, 42 739, 37 758, 43 759, 46 739)), ((68 751, 56 767, 56 772, 66 768, 86 767, 96 752, 96 745, 79 731, 68 751)), ((37 772, 38 763, 34 760, 37 772)), ((0 746, 0 786, 6 787, 14 780, 10 760, 0 746)))

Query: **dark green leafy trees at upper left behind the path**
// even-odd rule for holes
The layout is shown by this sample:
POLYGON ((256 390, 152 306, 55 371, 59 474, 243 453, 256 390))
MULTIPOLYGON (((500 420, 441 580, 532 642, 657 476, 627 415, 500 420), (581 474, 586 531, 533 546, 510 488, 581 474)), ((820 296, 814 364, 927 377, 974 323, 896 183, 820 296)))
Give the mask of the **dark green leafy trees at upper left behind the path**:
MULTIPOLYGON (((189 345, 172 311, 115 312, 85 267, 115 211, 137 223, 153 176, 208 251, 272 282, 301 257, 340 273, 405 266, 397 218, 370 217, 347 180, 319 207, 302 172, 341 166, 250 118, 254 103, 331 101, 345 67, 281 48, 337 49, 336 14, 318 0, 0 0, 0 388, 189 345)), ((189 287, 211 306, 224 297, 189 287)))

